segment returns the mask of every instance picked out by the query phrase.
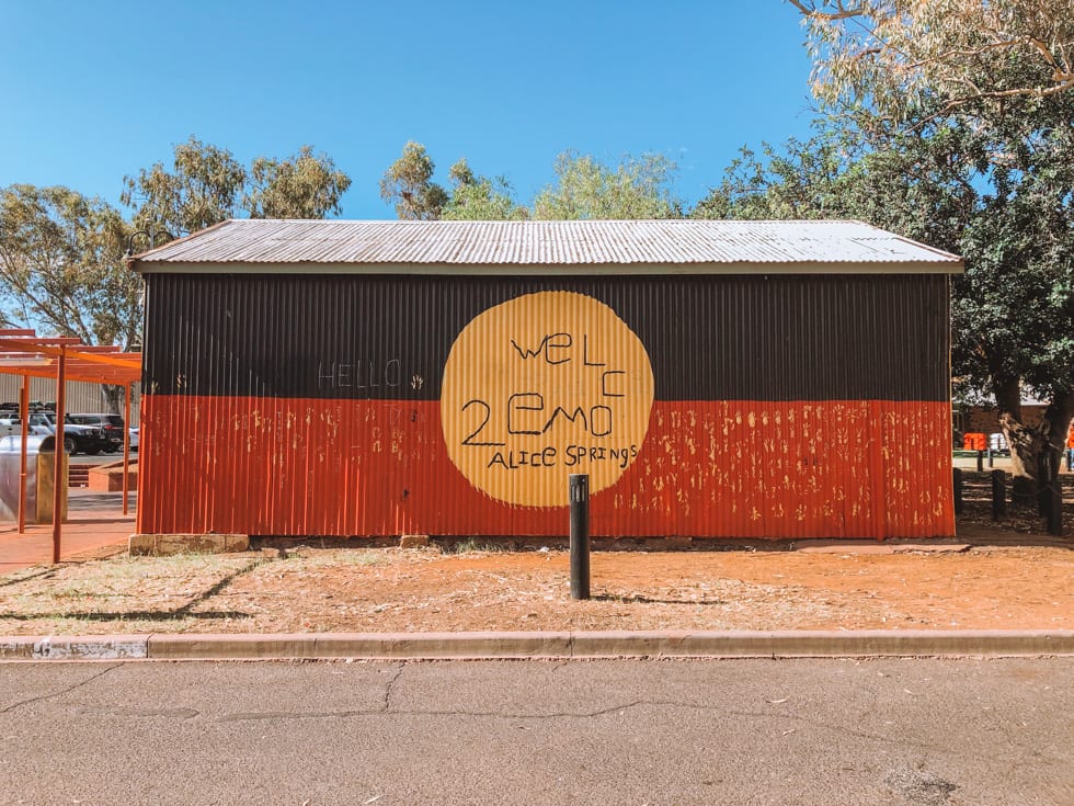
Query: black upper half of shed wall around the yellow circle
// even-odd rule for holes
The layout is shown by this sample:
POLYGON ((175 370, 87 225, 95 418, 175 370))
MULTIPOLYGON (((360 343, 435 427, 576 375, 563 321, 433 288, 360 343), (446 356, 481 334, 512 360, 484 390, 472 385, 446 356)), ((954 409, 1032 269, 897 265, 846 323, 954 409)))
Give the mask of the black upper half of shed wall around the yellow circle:
POLYGON ((662 400, 946 400, 946 275, 149 274, 146 394, 439 397, 475 316, 538 291, 609 305, 662 400))

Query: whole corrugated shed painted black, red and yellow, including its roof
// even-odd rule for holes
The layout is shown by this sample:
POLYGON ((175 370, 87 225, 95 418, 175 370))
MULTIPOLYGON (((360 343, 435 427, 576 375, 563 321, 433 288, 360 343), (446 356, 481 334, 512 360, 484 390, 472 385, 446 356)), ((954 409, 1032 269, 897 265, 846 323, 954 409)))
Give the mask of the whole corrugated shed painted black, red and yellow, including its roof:
POLYGON ((855 222, 232 220, 139 256, 138 529, 953 534, 955 256, 855 222))

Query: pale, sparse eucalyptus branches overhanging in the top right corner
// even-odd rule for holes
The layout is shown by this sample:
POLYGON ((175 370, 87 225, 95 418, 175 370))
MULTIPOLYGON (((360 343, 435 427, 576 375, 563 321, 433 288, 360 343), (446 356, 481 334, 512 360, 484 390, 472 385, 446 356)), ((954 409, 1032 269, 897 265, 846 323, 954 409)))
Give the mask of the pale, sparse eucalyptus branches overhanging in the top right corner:
POLYGON ((902 117, 1074 90, 1070 0, 788 0, 802 15, 815 94, 902 117), (1018 66, 1012 70, 1012 66, 1018 66))

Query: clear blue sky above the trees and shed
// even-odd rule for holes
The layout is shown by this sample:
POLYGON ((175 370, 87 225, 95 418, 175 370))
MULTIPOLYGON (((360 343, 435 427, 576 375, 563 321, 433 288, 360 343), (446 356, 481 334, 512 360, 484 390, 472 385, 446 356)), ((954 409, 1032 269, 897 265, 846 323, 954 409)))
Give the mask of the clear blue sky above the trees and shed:
POLYGON ((122 180, 196 135, 240 160, 328 152, 347 218, 414 139, 522 201, 574 149, 662 154, 700 198, 744 144, 807 134, 810 64, 781 0, 0 0, 0 185, 122 180))

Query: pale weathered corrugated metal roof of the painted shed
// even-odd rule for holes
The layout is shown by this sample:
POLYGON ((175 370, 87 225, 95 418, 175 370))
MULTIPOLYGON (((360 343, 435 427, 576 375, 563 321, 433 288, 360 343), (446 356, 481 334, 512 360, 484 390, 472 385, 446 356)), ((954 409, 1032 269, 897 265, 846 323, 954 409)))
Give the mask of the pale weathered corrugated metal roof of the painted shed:
MULTIPOLYGON (((138 271, 458 272, 482 266, 958 272, 957 256, 860 222, 235 219, 146 252, 138 271), (227 266, 224 269, 224 266, 227 266), (242 268, 239 268, 242 266, 242 268), (289 269, 288 269, 289 268, 289 269)), ((576 269, 575 269, 576 270, 576 269)))

